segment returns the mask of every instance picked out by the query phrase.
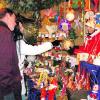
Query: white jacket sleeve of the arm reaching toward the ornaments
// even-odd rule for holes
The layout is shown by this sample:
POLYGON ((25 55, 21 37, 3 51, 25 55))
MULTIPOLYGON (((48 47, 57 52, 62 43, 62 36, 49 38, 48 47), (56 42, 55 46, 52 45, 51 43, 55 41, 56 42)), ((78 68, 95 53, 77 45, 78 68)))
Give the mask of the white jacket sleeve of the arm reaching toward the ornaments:
MULTIPOLYGON (((18 43, 17 43, 18 46, 18 43)), ((53 48, 51 42, 44 42, 40 45, 32 46, 20 40, 20 53, 22 55, 38 55, 53 48)))

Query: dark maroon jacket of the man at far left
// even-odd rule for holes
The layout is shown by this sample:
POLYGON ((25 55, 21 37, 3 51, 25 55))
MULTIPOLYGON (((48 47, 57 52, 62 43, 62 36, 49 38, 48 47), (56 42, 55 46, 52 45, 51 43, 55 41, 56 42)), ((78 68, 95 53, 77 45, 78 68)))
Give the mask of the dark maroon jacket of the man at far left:
POLYGON ((0 89, 12 91, 16 82, 20 81, 16 42, 13 33, 5 23, 0 22, 0 89))

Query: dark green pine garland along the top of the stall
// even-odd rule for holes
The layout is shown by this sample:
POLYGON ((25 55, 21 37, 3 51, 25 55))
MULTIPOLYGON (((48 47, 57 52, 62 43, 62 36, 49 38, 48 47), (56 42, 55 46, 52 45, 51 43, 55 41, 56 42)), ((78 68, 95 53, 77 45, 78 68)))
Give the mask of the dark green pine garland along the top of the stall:
MULTIPOLYGON (((18 12, 42 10, 58 5, 65 0, 6 0, 18 12)), ((68 0, 67 0, 68 1, 68 0)))

